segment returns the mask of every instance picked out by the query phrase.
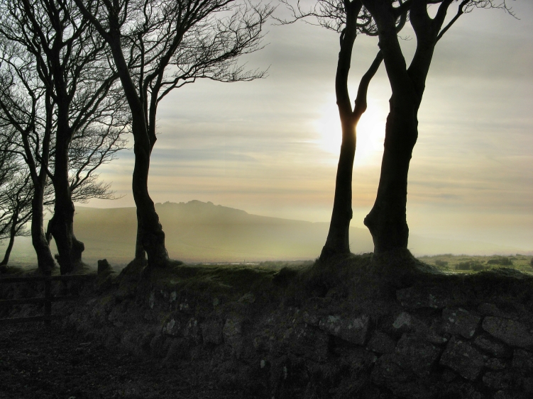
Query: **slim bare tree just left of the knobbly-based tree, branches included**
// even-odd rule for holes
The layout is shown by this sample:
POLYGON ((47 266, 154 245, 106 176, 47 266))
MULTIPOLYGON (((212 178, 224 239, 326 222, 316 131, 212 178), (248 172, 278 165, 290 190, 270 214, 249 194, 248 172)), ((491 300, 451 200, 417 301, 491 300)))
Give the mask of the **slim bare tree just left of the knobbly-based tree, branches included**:
POLYGON ((43 201, 53 146, 53 100, 35 64, 20 45, 0 35, 0 121, 6 127, 0 135, 12 145, 10 152, 20 156, 28 167, 33 184, 31 239, 38 268, 45 271, 55 266, 43 228, 43 201))

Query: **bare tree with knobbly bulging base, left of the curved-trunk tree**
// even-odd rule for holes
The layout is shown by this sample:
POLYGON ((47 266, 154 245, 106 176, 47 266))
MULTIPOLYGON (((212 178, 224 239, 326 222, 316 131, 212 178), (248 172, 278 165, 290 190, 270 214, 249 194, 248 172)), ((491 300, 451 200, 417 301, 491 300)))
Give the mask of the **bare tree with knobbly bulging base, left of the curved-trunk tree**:
POLYGON ((1 35, 33 57, 53 101, 55 147, 49 176, 55 206, 48 232, 57 245, 61 272, 69 272, 81 262, 84 250, 73 230, 70 145, 85 126, 105 123, 120 112, 123 99, 112 95, 118 74, 108 62, 105 43, 72 0, 10 0, 1 13, 1 35))

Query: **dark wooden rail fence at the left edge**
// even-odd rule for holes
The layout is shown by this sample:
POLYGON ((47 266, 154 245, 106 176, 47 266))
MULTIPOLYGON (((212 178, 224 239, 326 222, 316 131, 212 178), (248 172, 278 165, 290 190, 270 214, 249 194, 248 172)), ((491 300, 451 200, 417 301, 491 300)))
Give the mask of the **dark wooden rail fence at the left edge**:
POLYGON ((85 280, 91 276, 88 274, 68 274, 65 276, 52 276, 50 271, 45 271, 43 276, 26 276, 26 277, 4 277, 0 278, 0 284, 6 283, 29 283, 31 281, 43 281, 45 284, 44 296, 38 298, 21 298, 21 299, 2 299, 0 306, 24 305, 27 303, 44 303, 44 315, 31 317, 13 317, 9 319, 0 319, 2 324, 15 324, 19 322, 40 322, 44 321, 46 325, 50 324, 51 320, 60 319, 60 315, 52 314, 52 303, 63 302, 65 300, 75 300, 77 295, 53 296, 52 295, 52 281, 72 281, 85 280))

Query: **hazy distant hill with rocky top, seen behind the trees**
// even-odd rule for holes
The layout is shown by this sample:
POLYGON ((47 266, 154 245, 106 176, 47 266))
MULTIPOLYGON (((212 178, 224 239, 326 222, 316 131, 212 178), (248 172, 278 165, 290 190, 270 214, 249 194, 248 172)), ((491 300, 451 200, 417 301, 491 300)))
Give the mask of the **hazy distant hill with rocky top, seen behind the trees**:
MULTIPOLYGON (((185 262, 314 259, 320 254, 329 227, 329 223, 251 215, 211 202, 157 203, 155 209, 165 231, 170 257, 185 262)), ((136 208, 76 207, 75 234, 85 244, 83 257, 89 264, 103 258, 111 264, 131 261, 136 228, 136 208)), ((350 234, 352 252, 372 252, 372 237, 367 229, 351 227, 350 234)), ((417 235, 410 235, 409 248, 416 256, 527 253, 524 249, 486 242, 417 235)), ((29 238, 17 238, 12 259, 13 264, 35 264, 29 238)))

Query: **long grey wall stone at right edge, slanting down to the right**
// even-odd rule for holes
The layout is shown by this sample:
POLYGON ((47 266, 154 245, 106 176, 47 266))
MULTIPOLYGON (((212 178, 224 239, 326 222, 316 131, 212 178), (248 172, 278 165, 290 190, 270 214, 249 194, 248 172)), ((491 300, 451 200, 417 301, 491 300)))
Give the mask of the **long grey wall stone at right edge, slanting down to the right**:
POLYGON ((533 347, 533 335, 521 322, 487 316, 483 319, 482 327, 490 335, 512 347, 533 347))

